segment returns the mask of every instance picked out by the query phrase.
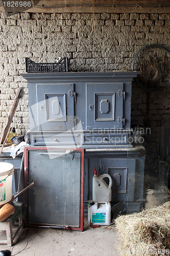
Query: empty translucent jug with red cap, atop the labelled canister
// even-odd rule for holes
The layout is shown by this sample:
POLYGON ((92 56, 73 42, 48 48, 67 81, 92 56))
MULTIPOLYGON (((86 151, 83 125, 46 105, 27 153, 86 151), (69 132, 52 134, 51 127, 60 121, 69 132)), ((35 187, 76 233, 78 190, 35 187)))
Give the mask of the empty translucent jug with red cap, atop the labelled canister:
POLYGON ((111 202, 111 187, 112 178, 109 174, 97 175, 96 169, 94 169, 94 176, 92 180, 92 200, 94 202, 111 202), (109 178, 109 185, 104 181, 104 178, 109 178))

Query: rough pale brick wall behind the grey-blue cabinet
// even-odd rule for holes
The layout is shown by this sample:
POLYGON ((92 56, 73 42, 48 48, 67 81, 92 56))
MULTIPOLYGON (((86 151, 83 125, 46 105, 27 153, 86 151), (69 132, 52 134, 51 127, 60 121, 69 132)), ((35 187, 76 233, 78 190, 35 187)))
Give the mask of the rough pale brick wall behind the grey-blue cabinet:
MULTIPOLYGON (((0 132, 19 87, 24 88, 25 96, 15 113, 16 132, 29 130, 28 84, 19 75, 25 72, 25 57, 54 62, 58 56, 68 56, 69 71, 127 71, 141 47, 170 47, 169 17, 138 13, 1 13, 0 132)), ((133 83, 132 125, 161 126, 164 120, 169 122, 169 97, 169 89, 148 96, 133 83)))

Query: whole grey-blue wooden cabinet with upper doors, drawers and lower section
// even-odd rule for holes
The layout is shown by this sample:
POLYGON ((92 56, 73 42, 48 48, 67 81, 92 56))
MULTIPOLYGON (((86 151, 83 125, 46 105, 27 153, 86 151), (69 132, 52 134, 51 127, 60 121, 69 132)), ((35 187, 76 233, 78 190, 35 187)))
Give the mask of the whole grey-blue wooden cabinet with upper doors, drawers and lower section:
MULTIPOLYGON (((133 148, 131 85, 138 72, 22 74, 28 80, 31 144, 85 148, 84 202, 92 199, 92 176, 112 177, 112 204, 143 201, 143 148, 133 148), (140 177, 140 178, 139 178, 140 177)), ((131 206, 130 206, 131 205, 131 206)), ((86 208, 87 209, 87 208, 86 208)))

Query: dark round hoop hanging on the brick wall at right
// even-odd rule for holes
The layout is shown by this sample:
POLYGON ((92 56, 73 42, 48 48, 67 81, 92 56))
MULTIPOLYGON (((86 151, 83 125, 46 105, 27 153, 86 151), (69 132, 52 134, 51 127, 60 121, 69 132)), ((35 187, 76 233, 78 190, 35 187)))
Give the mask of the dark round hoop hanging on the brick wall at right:
POLYGON ((137 83, 148 92, 156 92, 170 85, 170 50, 162 45, 148 45, 137 51, 131 63, 132 71, 139 71, 137 83))

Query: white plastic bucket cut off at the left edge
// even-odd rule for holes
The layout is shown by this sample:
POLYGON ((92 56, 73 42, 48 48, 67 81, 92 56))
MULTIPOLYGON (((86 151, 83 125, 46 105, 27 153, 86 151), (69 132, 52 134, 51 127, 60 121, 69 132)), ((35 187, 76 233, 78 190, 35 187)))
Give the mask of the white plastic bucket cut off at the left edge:
POLYGON ((12 199, 13 173, 13 164, 0 162, 0 205, 8 203, 12 199))

